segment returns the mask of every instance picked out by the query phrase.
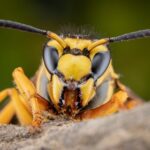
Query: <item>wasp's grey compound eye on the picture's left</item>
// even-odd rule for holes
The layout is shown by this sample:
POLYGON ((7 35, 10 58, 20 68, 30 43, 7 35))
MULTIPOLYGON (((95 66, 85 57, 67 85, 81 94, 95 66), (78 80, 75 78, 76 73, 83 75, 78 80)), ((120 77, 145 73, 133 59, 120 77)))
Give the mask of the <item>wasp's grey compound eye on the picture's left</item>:
POLYGON ((58 64, 58 51, 55 47, 46 46, 43 53, 43 59, 46 68, 50 73, 54 73, 58 64))

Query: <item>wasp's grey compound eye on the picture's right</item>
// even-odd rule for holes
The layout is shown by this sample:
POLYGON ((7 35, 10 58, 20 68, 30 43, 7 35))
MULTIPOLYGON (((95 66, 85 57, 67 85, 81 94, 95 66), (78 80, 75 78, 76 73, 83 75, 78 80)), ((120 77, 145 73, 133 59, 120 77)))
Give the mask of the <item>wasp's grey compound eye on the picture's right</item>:
POLYGON ((99 52, 92 60, 92 73, 94 80, 97 80, 108 68, 110 63, 110 52, 99 52))

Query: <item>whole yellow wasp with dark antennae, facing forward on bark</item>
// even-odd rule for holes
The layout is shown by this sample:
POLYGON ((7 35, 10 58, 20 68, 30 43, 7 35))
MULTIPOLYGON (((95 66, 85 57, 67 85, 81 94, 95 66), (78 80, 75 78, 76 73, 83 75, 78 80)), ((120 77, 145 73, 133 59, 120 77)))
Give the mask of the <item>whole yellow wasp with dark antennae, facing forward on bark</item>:
POLYGON ((0 27, 47 36, 41 65, 33 78, 21 67, 14 69, 15 87, 0 92, 0 102, 9 102, 0 111, 0 123, 11 123, 16 115, 21 125, 40 126, 45 113, 87 120, 130 109, 141 99, 119 81, 108 45, 150 37, 150 29, 109 38, 84 38, 81 35, 57 35, 9 20, 0 27))

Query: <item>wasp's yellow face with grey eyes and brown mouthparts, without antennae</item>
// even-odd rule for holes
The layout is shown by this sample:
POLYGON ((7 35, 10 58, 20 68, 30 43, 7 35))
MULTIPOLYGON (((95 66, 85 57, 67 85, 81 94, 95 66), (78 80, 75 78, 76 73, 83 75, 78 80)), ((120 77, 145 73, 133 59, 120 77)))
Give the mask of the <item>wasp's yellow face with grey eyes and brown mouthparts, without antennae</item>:
POLYGON ((91 40, 65 38, 66 48, 55 40, 44 49, 44 63, 51 74, 48 91, 59 112, 76 115, 95 96, 97 81, 110 64, 105 45, 91 51, 91 40))

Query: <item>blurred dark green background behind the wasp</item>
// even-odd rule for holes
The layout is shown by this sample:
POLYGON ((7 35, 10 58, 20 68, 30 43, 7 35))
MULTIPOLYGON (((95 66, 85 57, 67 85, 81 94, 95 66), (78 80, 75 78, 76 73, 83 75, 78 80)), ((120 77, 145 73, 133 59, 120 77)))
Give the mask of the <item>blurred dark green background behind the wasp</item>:
MULTIPOLYGON (((150 28, 150 1, 13 0, 0 1, 0 18, 59 31, 65 24, 90 25, 100 37, 150 28)), ((37 70, 45 37, 0 29, 0 90, 13 85, 11 73, 21 66, 28 76, 37 70)), ((123 83, 150 99, 150 39, 110 46, 123 83)))

